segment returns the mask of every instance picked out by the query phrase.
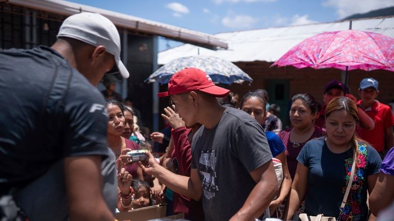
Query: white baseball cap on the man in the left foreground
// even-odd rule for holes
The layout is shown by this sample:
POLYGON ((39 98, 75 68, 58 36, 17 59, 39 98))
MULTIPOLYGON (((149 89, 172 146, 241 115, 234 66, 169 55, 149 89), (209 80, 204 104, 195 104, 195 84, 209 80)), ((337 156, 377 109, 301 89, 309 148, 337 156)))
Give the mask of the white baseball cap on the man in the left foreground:
POLYGON ((105 46, 105 50, 114 55, 120 75, 128 78, 128 70, 120 60, 119 32, 110 19, 90 12, 71 15, 61 24, 57 37, 74 38, 93 46, 105 46))

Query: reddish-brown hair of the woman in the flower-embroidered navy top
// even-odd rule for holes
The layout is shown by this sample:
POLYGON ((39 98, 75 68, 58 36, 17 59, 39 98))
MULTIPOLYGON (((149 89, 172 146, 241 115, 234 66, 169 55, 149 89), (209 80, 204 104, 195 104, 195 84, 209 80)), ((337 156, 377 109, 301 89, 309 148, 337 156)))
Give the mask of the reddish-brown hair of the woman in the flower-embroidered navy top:
MULTIPOLYGON (((358 115, 358 109, 356 103, 345 96, 335 97, 333 100, 327 104, 325 108, 325 119, 330 116, 331 113, 337 110, 345 110, 347 113, 351 114, 353 118, 356 120, 356 124, 360 121, 360 117, 358 115)), ((352 138, 352 145, 356 148, 356 140, 359 140, 356 134, 356 130, 354 131, 352 138)))

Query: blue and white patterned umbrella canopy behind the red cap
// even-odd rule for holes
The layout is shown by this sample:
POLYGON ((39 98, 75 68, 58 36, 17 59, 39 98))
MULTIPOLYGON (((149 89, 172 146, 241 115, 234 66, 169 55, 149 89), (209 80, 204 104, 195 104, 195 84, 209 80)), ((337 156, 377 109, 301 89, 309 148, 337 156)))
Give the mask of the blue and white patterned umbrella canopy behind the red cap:
POLYGON ((214 83, 232 84, 253 80, 247 73, 229 61, 199 55, 174 59, 157 69, 145 82, 158 81, 160 84, 166 84, 174 73, 186 67, 196 67, 203 70, 214 83))

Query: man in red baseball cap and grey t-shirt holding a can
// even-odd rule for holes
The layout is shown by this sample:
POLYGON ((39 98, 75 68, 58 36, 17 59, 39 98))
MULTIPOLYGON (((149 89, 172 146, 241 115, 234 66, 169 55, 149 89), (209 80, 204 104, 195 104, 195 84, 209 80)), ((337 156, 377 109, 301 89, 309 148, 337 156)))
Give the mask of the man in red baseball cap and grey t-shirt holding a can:
POLYGON ((228 93, 200 69, 175 73, 158 95, 170 96, 186 126, 203 125, 192 140, 190 177, 164 169, 150 153, 147 165, 139 163, 173 191, 202 198, 208 221, 260 217, 278 191, 264 130, 246 112, 216 101, 228 93))

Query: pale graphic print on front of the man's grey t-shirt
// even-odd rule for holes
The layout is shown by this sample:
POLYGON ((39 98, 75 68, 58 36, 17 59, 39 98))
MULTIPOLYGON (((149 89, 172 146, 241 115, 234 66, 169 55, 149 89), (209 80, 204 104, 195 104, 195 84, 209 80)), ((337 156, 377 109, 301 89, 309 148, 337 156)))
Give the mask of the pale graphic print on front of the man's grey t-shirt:
POLYGON ((215 150, 201 151, 200 155, 200 173, 204 176, 202 181, 204 189, 204 197, 212 199, 215 197, 215 191, 219 191, 219 187, 215 184, 216 179, 216 152, 215 150))

